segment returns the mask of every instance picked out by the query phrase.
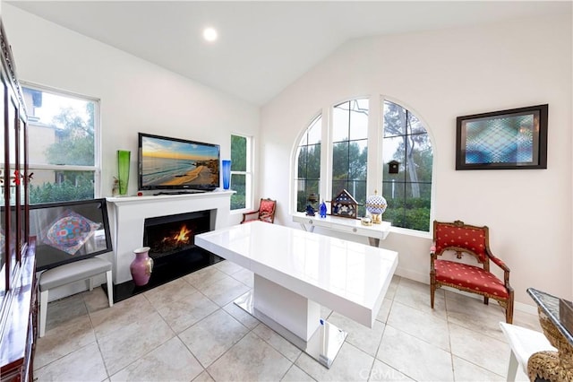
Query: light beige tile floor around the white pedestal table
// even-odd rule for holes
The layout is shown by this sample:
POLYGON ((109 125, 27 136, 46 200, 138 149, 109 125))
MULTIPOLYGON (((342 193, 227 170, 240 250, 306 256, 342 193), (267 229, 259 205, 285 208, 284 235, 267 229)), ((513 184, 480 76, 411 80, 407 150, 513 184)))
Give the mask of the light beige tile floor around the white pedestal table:
MULTIPOLYGON (((237 308, 252 273, 227 261, 107 307, 101 288, 48 304, 38 381, 502 381, 509 345, 492 301, 395 276, 372 329, 322 308, 348 332, 330 369, 237 308)), ((541 330, 515 311, 514 324, 541 330)), ((518 375, 526 380, 525 375, 518 375)))

